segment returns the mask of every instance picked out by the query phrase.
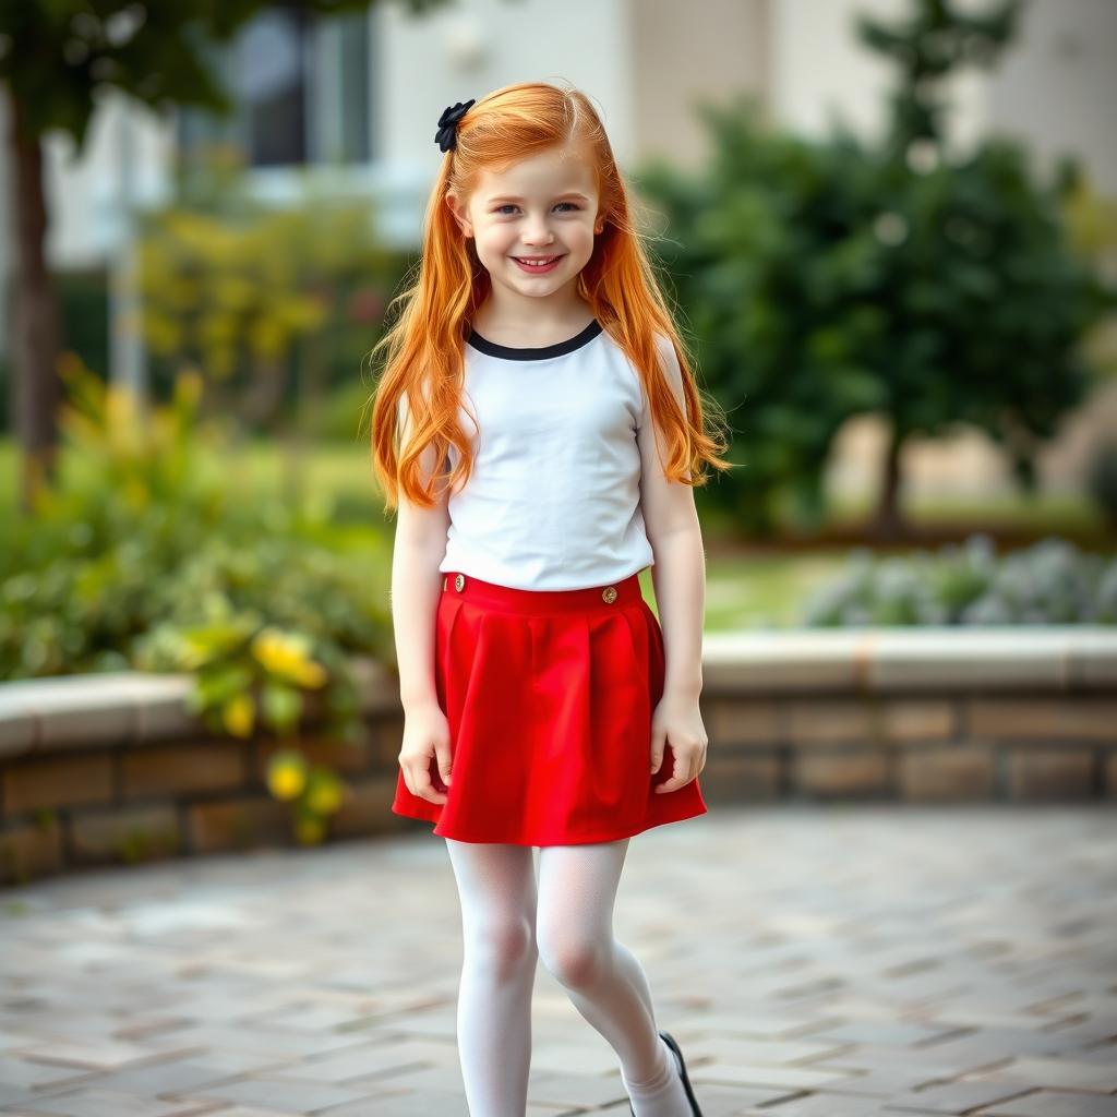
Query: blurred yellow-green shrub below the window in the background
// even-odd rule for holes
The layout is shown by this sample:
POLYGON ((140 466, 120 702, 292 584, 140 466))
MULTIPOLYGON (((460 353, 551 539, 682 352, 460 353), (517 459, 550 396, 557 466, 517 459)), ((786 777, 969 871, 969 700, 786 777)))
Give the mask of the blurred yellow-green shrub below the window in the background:
MULTIPOLYGON (((202 175, 187 197, 144 214, 137 252, 153 380, 162 388, 191 362, 209 402, 246 429, 314 435, 326 393, 360 386, 412 254, 381 241, 360 192, 305 179, 297 199, 275 207, 254 198, 246 170, 202 175)), ((334 421, 351 437, 357 417, 334 421)))

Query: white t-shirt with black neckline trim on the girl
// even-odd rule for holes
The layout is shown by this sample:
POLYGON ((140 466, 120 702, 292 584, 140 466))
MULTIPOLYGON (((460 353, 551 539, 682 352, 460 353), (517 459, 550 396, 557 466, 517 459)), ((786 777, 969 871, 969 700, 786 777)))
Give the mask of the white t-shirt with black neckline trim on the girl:
MULTIPOLYGON (((657 341, 681 401, 675 351, 657 341)), ((472 474, 450 493, 439 570, 517 589, 575 590, 653 565, 637 445, 650 412, 638 372, 600 322, 537 349, 474 331, 464 386, 459 422, 472 437, 472 474)), ((455 447, 449 455, 457 465, 455 447)))

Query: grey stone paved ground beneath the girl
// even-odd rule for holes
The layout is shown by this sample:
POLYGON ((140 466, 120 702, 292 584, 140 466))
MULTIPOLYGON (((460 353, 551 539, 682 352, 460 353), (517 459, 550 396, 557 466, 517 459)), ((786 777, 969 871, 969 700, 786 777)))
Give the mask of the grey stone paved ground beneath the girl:
MULTIPOLYGON (((0 911, 0 1114, 466 1117, 428 830, 84 873, 0 911)), ((1117 1115, 1111 806, 715 808, 633 839, 614 927, 706 1117, 1117 1115)), ((542 966, 533 1039, 531 1117, 627 1117, 542 966)))

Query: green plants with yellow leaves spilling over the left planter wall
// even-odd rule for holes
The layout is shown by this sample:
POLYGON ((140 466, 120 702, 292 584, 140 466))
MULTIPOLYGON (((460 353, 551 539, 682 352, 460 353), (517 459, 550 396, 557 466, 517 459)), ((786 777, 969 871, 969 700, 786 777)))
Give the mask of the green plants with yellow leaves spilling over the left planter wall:
MULTIPOLYGON (((351 738, 347 658, 394 651, 367 561, 317 542, 328 509, 267 499, 228 475, 226 428, 195 422, 195 374, 147 417, 76 357, 61 374, 65 468, 30 516, 4 525, 0 678, 189 671, 191 708, 235 736, 297 736, 318 693, 325 732, 351 738)), ((318 808, 336 809, 328 779, 315 772, 298 795, 289 784, 277 795, 293 800, 299 834, 321 832, 318 808)))

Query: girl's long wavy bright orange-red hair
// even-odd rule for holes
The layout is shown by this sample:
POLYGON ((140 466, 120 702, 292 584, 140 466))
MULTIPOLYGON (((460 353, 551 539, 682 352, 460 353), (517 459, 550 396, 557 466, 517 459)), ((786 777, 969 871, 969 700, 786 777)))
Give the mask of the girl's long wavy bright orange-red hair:
POLYGON ((420 507, 433 506, 435 491, 427 484, 421 462, 432 443, 441 465, 448 464, 451 445, 459 460, 451 472, 436 472, 431 485, 454 487, 468 479, 472 469, 472 437, 458 422, 464 349, 490 280, 446 198, 455 197, 464 208, 483 169, 499 172, 519 159, 565 144, 577 145, 592 160, 599 214, 604 220, 593 256, 579 276, 577 293, 639 371, 649 410, 667 448, 665 474, 671 480, 705 485, 706 477, 699 472, 704 461, 716 469, 731 468, 731 462, 718 457, 726 449, 725 441, 719 433, 706 430, 706 411, 690 362, 641 233, 632 223, 629 191, 600 117, 577 89, 523 82, 480 98, 457 125, 457 146, 442 156, 427 202, 418 278, 389 304, 389 312, 397 304, 402 304, 402 309, 367 354, 375 361, 386 350, 371 422, 373 466, 385 510, 397 507, 400 490, 420 507), (657 333, 670 342, 678 359, 685 413, 660 367, 657 333), (405 441, 399 427, 404 394, 410 416, 405 441))

